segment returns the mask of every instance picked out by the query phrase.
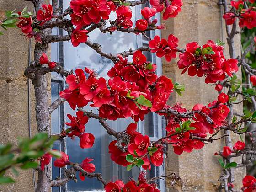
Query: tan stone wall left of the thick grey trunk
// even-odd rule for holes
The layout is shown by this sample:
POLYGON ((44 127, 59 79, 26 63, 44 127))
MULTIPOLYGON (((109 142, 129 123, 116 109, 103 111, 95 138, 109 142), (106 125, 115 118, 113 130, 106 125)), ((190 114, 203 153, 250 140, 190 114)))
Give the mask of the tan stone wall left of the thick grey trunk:
MULTIPOLYGON (((28 1, 0 0, 0 19, 4 18, 5 11, 21 11, 26 5, 29 11, 33 11, 32 3, 28 1)), ((10 142, 16 145, 19 137, 29 137, 29 111, 32 135, 37 132, 34 89, 30 82, 29 109, 28 81, 23 75, 28 66, 29 41, 20 29, 0 30, 4 32, 4 35, 0 36, 0 143, 10 142)), ((31 52, 33 54, 33 50, 31 52)), ((0 192, 34 191, 32 170, 18 171, 19 176, 8 172, 9 176, 15 178, 16 183, 1 185, 0 192)))

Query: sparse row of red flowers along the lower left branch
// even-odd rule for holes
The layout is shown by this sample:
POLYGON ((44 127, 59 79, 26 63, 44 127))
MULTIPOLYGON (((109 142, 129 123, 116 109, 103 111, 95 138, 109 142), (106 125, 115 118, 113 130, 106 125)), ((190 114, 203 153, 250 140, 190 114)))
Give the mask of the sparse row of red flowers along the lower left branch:
MULTIPOLYGON (((61 153, 61 157, 57 158, 54 162, 53 165, 55 167, 64 167, 66 165, 72 165, 72 163, 69 161, 69 155, 65 154, 64 152, 60 152, 61 153)), ((41 161, 41 170, 44 170, 45 165, 48 165, 51 161, 52 155, 50 155, 49 153, 45 153, 43 155, 43 157, 39 158, 39 160, 41 161)), ((93 163, 90 163, 91 161, 93 161, 93 159, 89 159, 89 158, 85 158, 83 160, 83 162, 80 164, 80 167, 87 171, 88 173, 92 173, 95 171, 95 165, 93 163)), ((79 173, 79 177, 82 181, 85 180, 85 176, 80 172, 79 173)))

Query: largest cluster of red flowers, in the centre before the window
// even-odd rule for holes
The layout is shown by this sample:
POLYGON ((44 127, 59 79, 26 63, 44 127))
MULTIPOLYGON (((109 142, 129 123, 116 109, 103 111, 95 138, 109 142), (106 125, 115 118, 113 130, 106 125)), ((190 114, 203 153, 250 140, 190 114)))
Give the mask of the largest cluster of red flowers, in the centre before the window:
POLYGON ((90 69, 85 68, 88 79, 82 69, 76 69, 76 75, 67 77, 69 88, 61 91, 60 96, 74 110, 92 102, 91 107, 99 107, 99 116, 109 120, 132 117, 138 122, 149 109, 155 112, 165 107, 173 89, 171 79, 158 77, 156 64, 147 62, 141 51, 133 54, 133 63, 118 57, 119 61, 107 73, 108 83, 90 69))

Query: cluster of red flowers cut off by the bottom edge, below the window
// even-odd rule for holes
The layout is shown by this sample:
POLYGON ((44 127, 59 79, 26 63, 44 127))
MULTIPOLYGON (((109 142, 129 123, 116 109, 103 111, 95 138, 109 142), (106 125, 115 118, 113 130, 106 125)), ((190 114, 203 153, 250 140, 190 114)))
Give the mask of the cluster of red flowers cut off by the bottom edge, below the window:
POLYGON ((160 192, 156 187, 155 183, 147 183, 145 172, 140 172, 137 182, 131 179, 124 184, 123 181, 117 180, 107 183, 105 190, 106 192, 160 192))

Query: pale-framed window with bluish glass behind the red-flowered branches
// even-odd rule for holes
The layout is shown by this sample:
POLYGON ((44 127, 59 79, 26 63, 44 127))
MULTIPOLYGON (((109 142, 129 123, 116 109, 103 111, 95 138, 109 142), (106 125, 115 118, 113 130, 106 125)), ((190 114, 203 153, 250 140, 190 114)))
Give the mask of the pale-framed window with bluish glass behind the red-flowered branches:
MULTIPOLYGON (((64 9, 69 6, 70 0, 63 0, 64 9)), ((140 16, 140 8, 132 8, 133 13, 133 23, 136 19, 135 15, 140 16)), ((158 16, 160 17, 160 16, 158 16)), ((110 15, 110 20, 115 18, 115 13, 110 15)), ((159 19, 160 20, 160 19, 159 19)), ((157 31, 156 31, 157 32, 157 31)), ((148 37, 154 37, 157 33, 149 31, 147 32, 148 37)), ((53 29, 54 34, 62 34, 61 30, 53 29)), ((65 34, 65 32, 63 32, 65 34)), ((160 34, 157 34, 160 35, 160 34)), ((120 53, 124 50, 129 50, 130 48, 136 49, 143 45, 148 44, 148 40, 142 36, 114 32, 112 35, 109 33, 102 34, 98 29, 90 33, 90 41, 94 43, 99 43, 102 46, 102 50, 108 53, 120 53)), ((156 58, 149 52, 144 53, 149 61, 157 64, 158 75, 161 74, 161 59, 156 58)), ((131 57, 128 58, 131 60, 131 57)), ((88 67, 97 71, 98 75, 101 77, 107 77, 107 71, 113 66, 111 60, 101 57, 93 49, 89 48, 85 44, 80 44, 80 46, 74 48, 70 42, 60 42, 52 43, 52 60, 56 60, 64 63, 64 68, 66 70, 75 70, 77 68, 84 69, 88 67)), ((62 90, 65 86, 64 79, 56 74, 52 73, 52 101, 55 100, 55 97, 58 96, 58 91, 62 90)), ((64 128, 64 114, 71 114, 75 116, 75 111, 73 111, 68 103, 65 103, 63 110, 61 107, 54 112, 52 115, 52 133, 56 134, 61 131, 61 128, 64 128), (65 113, 64 113, 65 112, 65 113), (63 121, 63 122, 62 122, 63 121)), ((98 111, 95 108, 90 106, 84 107, 85 110, 93 110, 95 113, 98 111)), ((120 119, 117 121, 108 121, 109 125, 116 131, 123 131, 129 123, 132 122, 132 119, 120 119)), ((95 136, 95 144, 90 149, 81 149, 79 147, 79 139, 61 139, 54 144, 55 149, 65 150, 69 155, 70 161, 80 163, 86 157, 93 158, 93 163, 96 166, 96 172, 101 172, 103 178, 106 181, 115 181, 121 179, 124 182, 128 181, 129 177, 134 177, 137 179, 139 175, 139 169, 133 167, 131 171, 126 171, 125 167, 117 165, 112 160, 110 160, 110 155, 108 154, 108 144, 114 139, 109 136, 105 129, 101 127, 101 124, 98 123, 95 119, 90 119, 89 122, 85 125, 85 131, 92 133, 95 136)), ((154 113, 149 113, 144 122, 139 122, 139 131, 143 134, 148 134, 150 139, 156 140, 158 137, 163 135, 161 117, 157 116, 154 113)), ((152 166, 151 171, 147 173, 150 177, 160 176, 164 174, 164 165, 161 167, 152 166)), ((56 176, 61 176, 61 170, 53 168, 53 178, 56 176)), ((165 181, 157 181, 160 187, 161 192, 165 192, 165 181)), ((69 181, 65 187, 55 187, 54 192, 59 191, 74 191, 74 192, 85 192, 85 191, 102 191, 103 186, 101 182, 96 179, 85 178, 85 181, 80 181, 75 183, 74 181, 69 181), (56 189, 55 189, 56 188, 56 189)))

